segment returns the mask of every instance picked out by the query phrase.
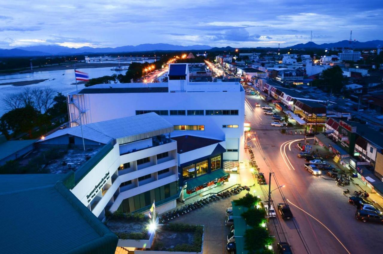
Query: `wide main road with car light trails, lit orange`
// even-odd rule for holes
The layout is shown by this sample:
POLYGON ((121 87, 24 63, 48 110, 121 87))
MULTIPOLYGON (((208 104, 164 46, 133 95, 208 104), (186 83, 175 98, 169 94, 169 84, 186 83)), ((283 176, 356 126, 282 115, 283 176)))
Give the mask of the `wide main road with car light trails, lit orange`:
MULTIPOLYGON (((296 156, 299 152, 296 145, 303 135, 282 134, 280 127, 270 125, 270 115, 254 107, 255 102, 261 106, 267 104, 259 96, 246 95, 245 119, 252 127, 250 136, 246 137, 247 144, 253 147, 257 165, 268 183, 269 172, 274 173, 272 189, 285 185, 272 192, 275 209, 277 203, 286 202, 294 215, 294 219, 286 221, 279 213, 278 218, 272 218, 277 241, 289 242, 297 254, 381 253, 383 226, 355 219, 355 206, 342 194, 345 188, 336 186, 326 175, 313 176, 304 170, 304 159, 296 156)), ((347 188, 352 193, 356 190, 353 185, 347 188)))

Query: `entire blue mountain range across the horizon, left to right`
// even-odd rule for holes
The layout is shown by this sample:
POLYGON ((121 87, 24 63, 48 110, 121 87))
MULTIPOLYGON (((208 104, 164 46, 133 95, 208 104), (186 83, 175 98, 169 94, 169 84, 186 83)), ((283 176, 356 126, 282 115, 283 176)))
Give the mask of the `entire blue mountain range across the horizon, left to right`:
MULTIPOLYGON (((378 45, 383 46, 382 40, 373 40, 360 42, 355 41, 355 49, 364 48, 376 48, 378 45)), ((354 46, 354 42, 352 43, 354 46)), ((325 49, 325 48, 342 48, 349 47, 349 41, 338 41, 336 43, 323 43, 316 44, 312 41, 308 43, 300 43, 294 46, 286 47, 293 49, 325 49)), ((171 45, 166 43, 155 43, 155 44, 140 44, 137 46, 121 46, 116 48, 92 48, 92 47, 81 47, 81 48, 69 48, 59 45, 39 45, 39 46, 28 46, 13 49, 0 49, 0 57, 24 57, 24 56, 59 56, 68 54, 95 54, 95 53, 123 53, 123 52, 143 52, 143 51, 183 51, 183 50, 210 50, 210 51, 221 51, 221 50, 233 50, 234 48, 228 46, 226 48, 213 48, 208 45, 192 45, 192 46, 180 46, 171 45)), ((270 49, 257 47, 257 49, 270 49)))

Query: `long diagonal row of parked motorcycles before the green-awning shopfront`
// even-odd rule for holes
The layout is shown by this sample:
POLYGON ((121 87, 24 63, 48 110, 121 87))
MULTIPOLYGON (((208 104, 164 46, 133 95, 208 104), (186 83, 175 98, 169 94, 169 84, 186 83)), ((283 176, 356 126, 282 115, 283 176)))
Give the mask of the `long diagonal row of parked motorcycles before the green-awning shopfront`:
POLYGON ((217 194, 212 194, 206 198, 202 198, 198 201, 195 201, 194 203, 183 205, 182 207, 180 207, 178 209, 175 209, 173 211, 168 211, 168 212, 162 214, 162 216, 160 217, 160 222, 162 224, 167 223, 168 221, 175 219, 177 217, 180 217, 183 214, 187 214, 190 211, 201 208, 204 205, 207 205, 208 203, 220 200, 221 198, 227 198, 231 195, 236 195, 243 190, 250 191, 250 187, 237 185, 236 187, 232 188, 231 190, 226 190, 226 191, 222 191, 222 192, 217 193, 217 194))

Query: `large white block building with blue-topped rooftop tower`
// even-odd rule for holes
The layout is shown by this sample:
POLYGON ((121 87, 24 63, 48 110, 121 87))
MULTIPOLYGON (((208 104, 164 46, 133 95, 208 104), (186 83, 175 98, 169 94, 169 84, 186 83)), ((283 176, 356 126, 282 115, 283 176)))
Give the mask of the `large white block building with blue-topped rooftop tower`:
POLYGON ((239 82, 189 82, 187 64, 170 64, 166 83, 99 84, 67 96, 70 125, 155 112, 174 126, 171 137, 221 140, 223 160, 241 160, 244 97, 239 82))

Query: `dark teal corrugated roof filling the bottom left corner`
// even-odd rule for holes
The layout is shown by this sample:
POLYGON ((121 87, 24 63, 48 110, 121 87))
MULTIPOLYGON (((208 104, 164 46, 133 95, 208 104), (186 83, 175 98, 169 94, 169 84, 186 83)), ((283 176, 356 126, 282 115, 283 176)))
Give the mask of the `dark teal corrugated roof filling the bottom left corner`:
POLYGON ((61 181, 39 183, 0 193, 2 253, 115 253, 118 238, 61 181))

